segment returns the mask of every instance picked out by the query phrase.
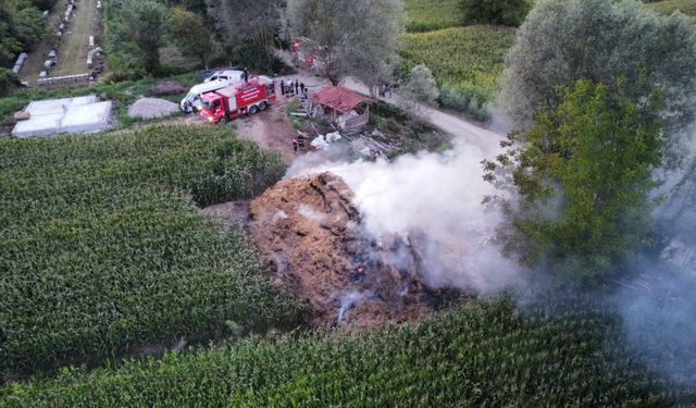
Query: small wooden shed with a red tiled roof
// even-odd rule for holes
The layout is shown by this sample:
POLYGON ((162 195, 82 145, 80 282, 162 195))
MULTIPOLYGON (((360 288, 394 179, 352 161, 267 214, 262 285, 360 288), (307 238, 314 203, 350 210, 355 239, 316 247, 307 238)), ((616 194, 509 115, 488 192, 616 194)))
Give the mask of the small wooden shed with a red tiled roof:
POLYGON ((341 129, 358 132, 370 120, 372 99, 339 86, 328 86, 312 95, 310 114, 338 123, 341 129))

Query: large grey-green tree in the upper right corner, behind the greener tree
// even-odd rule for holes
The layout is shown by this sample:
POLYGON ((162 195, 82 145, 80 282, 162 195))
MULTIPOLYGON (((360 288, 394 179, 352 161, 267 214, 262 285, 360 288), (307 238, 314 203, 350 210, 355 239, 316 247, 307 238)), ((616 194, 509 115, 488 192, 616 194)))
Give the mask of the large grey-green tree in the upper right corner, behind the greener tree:
POLYGON ((694 20, 658 15, 633 0, 538 0, 505 65, 499 104, 522 131, 542 107, 560 104, 559 86, 582 78, 611 90, 625 77, 623 91, 636 103, 660 88, 669 135, 695 118, 694 20))

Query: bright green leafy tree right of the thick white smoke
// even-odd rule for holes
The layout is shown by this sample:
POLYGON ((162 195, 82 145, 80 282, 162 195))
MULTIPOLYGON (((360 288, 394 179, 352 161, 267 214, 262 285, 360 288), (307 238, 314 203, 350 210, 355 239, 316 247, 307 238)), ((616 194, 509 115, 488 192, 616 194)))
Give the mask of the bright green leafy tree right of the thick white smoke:
POLYGON ((531 267, 585 281, 620 271, 649 244, 661 97, 649 95, 643 107, 619 83, 616 92, 589 81, 562 90, 525 141, 511 134, 507 153, 484 164, 487 181, 505 182, 502 174, 518 193, 514 206, 505 202, 512 227, 505 239, 531 267))

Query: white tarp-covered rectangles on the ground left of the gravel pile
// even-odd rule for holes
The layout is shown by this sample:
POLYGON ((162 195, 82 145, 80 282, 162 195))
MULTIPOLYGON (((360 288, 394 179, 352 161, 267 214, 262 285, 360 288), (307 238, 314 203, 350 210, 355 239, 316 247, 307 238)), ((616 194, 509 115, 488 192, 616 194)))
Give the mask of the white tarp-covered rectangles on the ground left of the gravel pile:
POLYGON ((104 131, 109 127, 111 106, 110 101, 99 102, 94 95, 35 101, 25 109, 30 119, 17 122, 12 136, 28 138, 104 131))

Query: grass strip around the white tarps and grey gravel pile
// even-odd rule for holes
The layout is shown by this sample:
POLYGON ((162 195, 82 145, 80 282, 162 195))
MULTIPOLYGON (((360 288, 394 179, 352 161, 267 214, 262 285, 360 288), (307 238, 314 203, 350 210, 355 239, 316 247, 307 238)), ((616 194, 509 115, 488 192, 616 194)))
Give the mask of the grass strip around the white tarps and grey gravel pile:
MULTIPOLYGON (((199 83, 200 81, 195 74, 185 74, 169 77, 166 79, 176 81, 187 88, 199 83)), ((0 138, 8 137, 14 125, 12 114, 26 108, 33 100, 67 98, 95 94, 102 100, 112 100, 114 110, 120 125, 128 125, 138 122, 137 119, 128 118, 128 107, 135 102, 140 96, 149 96, 152 85, 157 83, 154 78, 145 78, 140 81, 125 81, 113 84, 98 83, 80 87, 65 87, 55 89, 29 88, 18 89, 7 98, 0 98, 0 138)), ((184 95, 173 95, 161 97, 178 103, 184 95)))

